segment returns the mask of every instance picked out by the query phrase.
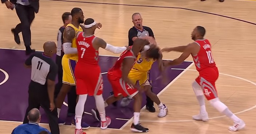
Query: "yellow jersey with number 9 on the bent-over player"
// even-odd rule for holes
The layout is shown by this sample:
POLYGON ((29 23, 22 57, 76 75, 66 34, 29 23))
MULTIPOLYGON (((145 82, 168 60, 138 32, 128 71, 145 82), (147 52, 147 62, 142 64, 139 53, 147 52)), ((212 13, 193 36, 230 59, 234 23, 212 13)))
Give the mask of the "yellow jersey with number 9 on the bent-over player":
POLYGON ((154 59, 142 58, 141 54, 139 53, 137 57, 137 61, 132 67, 132 70, 135 69, 139 71, 149 71, 154 62, 155 62, 154 59))

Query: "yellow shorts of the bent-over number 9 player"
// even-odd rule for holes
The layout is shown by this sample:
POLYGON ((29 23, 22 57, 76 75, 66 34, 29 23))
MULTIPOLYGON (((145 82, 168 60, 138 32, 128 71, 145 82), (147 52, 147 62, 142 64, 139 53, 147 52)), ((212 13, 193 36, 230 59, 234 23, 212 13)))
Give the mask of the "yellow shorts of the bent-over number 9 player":
POLYGON ((143 87, 145 85, 151 86, 149 71, 139 71, 132 68, 132 70, 128 74, 128 78, 133 84, 136 84, 136 82, 139 81, 140 87, 143 87))

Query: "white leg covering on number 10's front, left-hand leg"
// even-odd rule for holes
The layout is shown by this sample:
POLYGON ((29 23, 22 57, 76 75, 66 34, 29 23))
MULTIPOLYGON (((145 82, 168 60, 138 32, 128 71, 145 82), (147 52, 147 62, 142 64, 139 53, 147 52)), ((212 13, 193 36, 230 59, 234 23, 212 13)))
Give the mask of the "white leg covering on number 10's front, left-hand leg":
POLYGON ((206 113, 205 102, 204 102, 204 93, 203 93, 201 86, 196 81, 194 81, 192 83, 192 88, 196 95, 196 99, 200 105, 200 114, 206 113))

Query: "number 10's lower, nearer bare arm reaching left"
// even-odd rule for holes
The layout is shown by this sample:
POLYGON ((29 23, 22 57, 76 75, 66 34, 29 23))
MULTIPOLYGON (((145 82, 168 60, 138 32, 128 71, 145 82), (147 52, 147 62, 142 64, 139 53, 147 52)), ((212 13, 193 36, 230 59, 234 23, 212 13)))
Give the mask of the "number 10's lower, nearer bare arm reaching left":
POLYGON ((191 53, 193 53, 193 51, 196 51, 196 49, 197 48, 196 48, 195 43, 188 44, 179 58, 177 58, 173 61, 170 61, 170 62, 165 62, 164 66, 173 66, 173 65, 181 64, 182 62, 184 62, 185 59, 188 58, 188 56, 191 53))

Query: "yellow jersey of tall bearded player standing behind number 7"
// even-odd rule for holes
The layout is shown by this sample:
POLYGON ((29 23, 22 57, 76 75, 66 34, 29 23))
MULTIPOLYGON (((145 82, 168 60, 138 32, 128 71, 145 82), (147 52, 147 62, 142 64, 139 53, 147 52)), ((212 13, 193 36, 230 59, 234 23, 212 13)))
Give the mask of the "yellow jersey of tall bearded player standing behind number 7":
MULTIPOLYGON (((66 28, 67 28, 68 26, 70 26, 71 28, 73 28, 73 29, 75 30, 76 34, 77 34, 78 32, 83 32, 83 29, 81 28, 81 26, 79 26, 79 28, 77 28, 77 27, 74 26, 73 24, 68 24, 68 25, 66 26, 66 28)), ((64 30, 64 32, 65 32, 65 30, 64 30)), ((64 34, 63 34, 63 35, 64 35, 64 34)), ((77 46, 76 46, 76 35, 75 35, 75 37, 73 37, 73 39, 72 39, 72 45, 71 45, 71 47, 77 48, 77 46)), ((78 60, 77 54, 64 54, 64 56, 65 56, 66 58, 68 58, 68 59, 78 60)))

